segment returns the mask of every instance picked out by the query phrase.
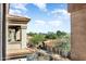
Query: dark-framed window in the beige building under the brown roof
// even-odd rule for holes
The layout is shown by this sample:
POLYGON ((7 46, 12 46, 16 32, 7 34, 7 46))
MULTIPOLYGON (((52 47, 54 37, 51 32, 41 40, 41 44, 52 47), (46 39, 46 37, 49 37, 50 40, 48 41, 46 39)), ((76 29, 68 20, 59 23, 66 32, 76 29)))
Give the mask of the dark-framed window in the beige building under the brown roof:
POLYGON ((9 26, 9 42, 21 41, 21 26, 9 26))

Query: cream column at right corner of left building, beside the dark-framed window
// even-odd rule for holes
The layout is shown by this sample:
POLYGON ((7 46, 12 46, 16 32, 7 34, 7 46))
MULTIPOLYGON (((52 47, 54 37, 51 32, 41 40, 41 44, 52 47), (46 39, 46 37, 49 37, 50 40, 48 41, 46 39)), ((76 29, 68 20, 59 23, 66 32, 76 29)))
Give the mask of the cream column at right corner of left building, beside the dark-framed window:
POLYGON ((22 49, 26 48, 26 26, 21 26, 22 28, 22 49))

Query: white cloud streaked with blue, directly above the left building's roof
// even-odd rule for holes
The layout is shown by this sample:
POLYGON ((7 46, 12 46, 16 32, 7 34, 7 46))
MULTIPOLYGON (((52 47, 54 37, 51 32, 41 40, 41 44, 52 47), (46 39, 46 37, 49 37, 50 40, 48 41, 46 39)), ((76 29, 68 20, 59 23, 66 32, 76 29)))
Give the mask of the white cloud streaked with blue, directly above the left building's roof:
POLYGON ((12 3, 10 14, 26 16, 26 3, 12 3))

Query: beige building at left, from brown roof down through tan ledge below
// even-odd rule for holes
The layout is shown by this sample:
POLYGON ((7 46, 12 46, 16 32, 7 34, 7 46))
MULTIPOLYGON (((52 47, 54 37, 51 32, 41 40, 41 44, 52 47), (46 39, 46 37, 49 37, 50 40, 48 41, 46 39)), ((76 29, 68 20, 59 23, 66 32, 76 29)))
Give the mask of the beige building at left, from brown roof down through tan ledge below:
POLYGON ((7 15, 7 59, 29 53, 26 51, 26 24, 29 21, 30 18, 24 16, 7 15))

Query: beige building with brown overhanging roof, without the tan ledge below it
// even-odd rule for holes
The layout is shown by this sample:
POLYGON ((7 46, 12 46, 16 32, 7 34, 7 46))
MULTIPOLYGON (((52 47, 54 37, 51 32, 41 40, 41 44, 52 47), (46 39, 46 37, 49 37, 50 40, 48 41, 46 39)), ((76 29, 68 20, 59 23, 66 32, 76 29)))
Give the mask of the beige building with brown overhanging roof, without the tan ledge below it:
POLYGON ((30 18, 8 15, 8 49, 26 48, 26 24, 30 18))

